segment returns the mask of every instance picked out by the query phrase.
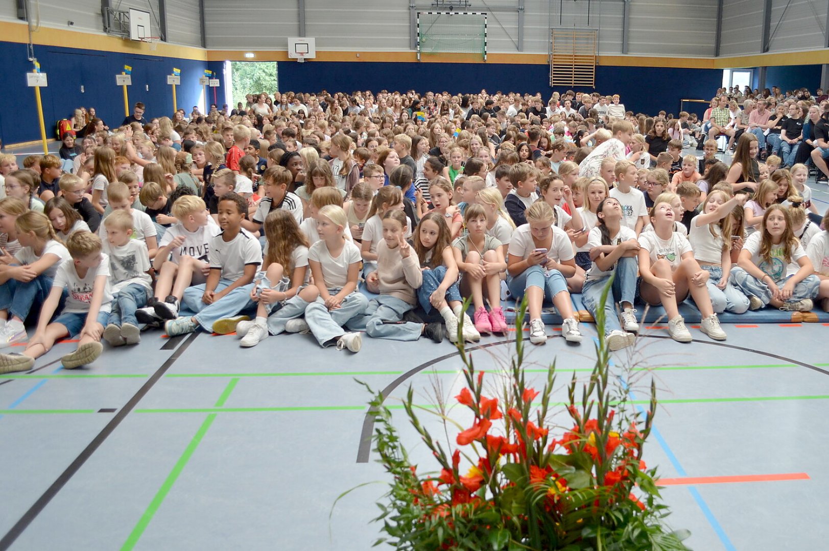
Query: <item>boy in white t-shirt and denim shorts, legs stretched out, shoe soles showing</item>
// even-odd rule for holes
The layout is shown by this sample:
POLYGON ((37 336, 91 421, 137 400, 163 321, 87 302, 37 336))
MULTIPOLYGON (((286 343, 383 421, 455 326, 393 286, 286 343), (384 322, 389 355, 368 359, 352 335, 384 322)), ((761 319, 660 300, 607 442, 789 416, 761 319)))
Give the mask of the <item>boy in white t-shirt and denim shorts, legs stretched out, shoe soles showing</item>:
POLYGON ((0 354, 0 372, 27 371, 36 358, 46 354, 55 342, 80 335, 78 348, 61 358, 67 370, 95 361, 104 347, 100 339, 109 320, 112 293, 109 292, 109 258, 101 252, 101 239, 88 231, 76 231, 66 239, 72 262, 61 263, 49 297, 43 303, 37 329, 22 354, 0 354), (65 306, 49 322, 68 291, 65 306))

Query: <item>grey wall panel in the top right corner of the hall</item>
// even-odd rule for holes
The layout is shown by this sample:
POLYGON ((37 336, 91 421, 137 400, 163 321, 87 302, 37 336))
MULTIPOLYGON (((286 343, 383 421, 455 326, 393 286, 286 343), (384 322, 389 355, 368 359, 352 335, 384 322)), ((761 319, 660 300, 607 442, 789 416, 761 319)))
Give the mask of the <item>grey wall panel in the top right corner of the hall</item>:
POLYGON ((792 0, 791 3, 788 0, 773 0, 772 25, 769 31, 772 40, 769 51, 822 48, 826 30, 824 27, 827 24, 827 6, 827 0, 792 0))

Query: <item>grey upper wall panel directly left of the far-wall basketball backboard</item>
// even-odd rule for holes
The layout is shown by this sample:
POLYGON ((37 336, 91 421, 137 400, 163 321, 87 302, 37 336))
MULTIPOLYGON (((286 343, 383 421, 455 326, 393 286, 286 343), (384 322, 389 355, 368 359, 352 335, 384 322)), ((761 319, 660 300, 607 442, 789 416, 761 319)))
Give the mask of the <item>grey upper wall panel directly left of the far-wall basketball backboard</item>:
POLYGON ((288 36, 299 36, 297 3, 288 0, 205 0, 207 47, 288 50, 288 36))

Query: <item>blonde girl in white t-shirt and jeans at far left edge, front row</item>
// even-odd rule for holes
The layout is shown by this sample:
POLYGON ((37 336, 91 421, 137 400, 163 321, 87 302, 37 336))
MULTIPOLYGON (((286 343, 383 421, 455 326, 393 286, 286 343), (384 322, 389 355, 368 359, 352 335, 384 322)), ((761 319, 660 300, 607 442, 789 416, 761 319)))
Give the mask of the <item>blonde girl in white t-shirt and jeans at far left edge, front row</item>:
POLYGON ((23 322, 32 309, 40 310, 57 268, 70 258, 43 213, 30 210, 14 225, 22 249, 14 255, 16 265, 0 264, 0 347, 27 340, 23 322))

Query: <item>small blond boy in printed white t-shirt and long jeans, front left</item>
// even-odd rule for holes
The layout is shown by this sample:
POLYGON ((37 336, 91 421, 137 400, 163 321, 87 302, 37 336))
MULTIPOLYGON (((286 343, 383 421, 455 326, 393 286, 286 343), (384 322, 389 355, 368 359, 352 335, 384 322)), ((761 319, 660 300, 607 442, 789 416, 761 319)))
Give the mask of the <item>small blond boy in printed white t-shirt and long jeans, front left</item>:
POLYGON ((112 346, 137 345, 141 330, 135 312, 147 305, 153 292, 147 245, 133 237, 133 217, 115 210, 104 220, 104 253, 109 256, 110 284, 114 301, 104 339, 112 346))

